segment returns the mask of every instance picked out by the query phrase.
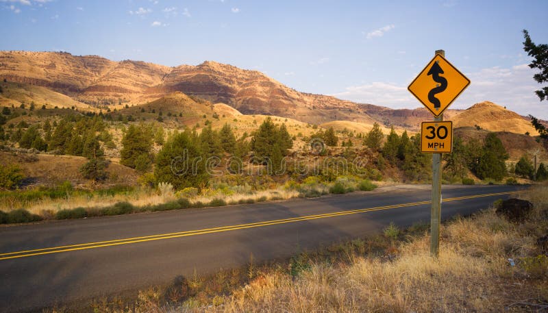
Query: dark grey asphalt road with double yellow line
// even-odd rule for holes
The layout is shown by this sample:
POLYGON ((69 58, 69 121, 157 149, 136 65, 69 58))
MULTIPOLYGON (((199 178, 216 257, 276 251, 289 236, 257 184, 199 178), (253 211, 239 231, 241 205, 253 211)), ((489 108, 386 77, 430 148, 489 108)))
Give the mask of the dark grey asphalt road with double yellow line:
MULTIPOLYGON (((442 217, 471 214, 516 186, 443 186, 442 217), (503 194, 501 194, 503 193, 503 194), (479 196, 479 197, 473 197, 479 196)), ((253 205, 0 227, 0 311, 167 284, 177 275, 286 258, 302 249, 429 222, 429 186, 253 205)))

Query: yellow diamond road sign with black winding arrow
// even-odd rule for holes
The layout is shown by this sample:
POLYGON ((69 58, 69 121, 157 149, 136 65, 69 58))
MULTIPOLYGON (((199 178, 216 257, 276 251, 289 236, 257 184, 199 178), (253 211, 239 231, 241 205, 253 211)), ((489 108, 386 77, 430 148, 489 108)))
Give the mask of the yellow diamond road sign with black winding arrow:
POLYGON ((440 116, 469 84, 470 79, 443 56, 436 54, 408 90, 434 116, 440 116))

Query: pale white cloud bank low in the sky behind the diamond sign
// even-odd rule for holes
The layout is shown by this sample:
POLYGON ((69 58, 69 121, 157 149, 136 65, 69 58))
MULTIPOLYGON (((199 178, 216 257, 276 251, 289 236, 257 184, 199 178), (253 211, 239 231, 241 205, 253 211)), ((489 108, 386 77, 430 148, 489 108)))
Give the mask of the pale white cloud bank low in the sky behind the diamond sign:
MULTIPOLYGON (((521 115, 533 114, 539 118, 548 119, 546 104, 541 103, 534 93, 535 90, 544 86, 534 81, 535 73, 536 71, 527 64, 508 68, 495 66, 465 73, 466 77, 471 80, 471 84, 451 104, 450 108, 466 109, 478 102, 492 101, 521 115)), ((407 90, 407 86, 413 78, 410 77, 406 84, 372 82, 360 86, 350 86, 333 96, 395 109, 419 108, 422 107, 421 103, 407 90)))

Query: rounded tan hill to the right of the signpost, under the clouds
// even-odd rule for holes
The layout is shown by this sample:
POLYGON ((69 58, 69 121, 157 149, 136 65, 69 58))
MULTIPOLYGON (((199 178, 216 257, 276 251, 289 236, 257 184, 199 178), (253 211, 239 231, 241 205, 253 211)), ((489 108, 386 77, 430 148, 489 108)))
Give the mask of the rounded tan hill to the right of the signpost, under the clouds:
POLYGON ((531 136, 538 136, 538 132, 523 116, 497 105, 485 101, 476 103, 453 117, 453 127, 482 127, 491 132, 512 132, 531 136))

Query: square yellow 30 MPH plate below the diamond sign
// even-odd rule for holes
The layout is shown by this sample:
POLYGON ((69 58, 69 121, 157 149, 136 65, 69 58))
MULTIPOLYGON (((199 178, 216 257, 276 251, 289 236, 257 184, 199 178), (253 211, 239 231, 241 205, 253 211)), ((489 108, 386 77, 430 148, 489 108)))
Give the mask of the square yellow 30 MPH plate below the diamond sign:
POLYGON ((423 122, 421 125, 421 151, 451 153, 453 151, 453 122, 423 122))

